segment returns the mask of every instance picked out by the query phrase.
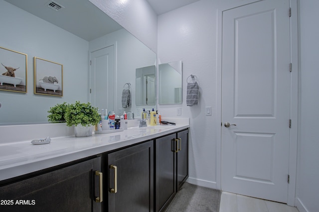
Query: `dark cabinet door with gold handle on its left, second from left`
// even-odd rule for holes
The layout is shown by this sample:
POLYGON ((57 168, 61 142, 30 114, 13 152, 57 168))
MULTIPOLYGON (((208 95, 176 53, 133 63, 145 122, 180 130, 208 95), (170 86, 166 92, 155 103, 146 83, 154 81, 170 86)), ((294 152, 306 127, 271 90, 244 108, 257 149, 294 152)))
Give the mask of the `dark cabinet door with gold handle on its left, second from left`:
POLYGON ((153 140, 108 154, 109 212, 154 211, 153 140))

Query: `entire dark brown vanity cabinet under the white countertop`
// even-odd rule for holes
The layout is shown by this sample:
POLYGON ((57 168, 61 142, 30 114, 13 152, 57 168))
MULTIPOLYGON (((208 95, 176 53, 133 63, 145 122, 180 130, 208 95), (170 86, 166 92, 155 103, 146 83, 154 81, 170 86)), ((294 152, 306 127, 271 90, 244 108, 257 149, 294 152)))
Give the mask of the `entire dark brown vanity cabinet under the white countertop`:
POLYGON ((0 212, 162 212, 187 177, 188 129, 1 181, 0 212))

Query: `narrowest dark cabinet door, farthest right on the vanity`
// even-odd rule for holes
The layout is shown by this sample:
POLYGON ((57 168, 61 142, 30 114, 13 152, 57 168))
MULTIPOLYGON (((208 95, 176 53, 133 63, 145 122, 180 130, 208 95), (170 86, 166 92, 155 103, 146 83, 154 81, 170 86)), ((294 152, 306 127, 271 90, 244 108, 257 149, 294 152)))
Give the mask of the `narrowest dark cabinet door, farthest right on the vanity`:
POLYGON ((177 133, 177 191, 188 177, 188 130, 177 133))

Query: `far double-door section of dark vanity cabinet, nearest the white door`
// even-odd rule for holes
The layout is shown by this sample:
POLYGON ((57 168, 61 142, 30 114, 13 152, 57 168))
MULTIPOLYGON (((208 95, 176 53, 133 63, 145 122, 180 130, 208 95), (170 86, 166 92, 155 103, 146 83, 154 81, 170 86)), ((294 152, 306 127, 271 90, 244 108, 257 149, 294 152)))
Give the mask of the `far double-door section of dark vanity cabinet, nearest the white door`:
POLYGON ((156 139, 156 212, 162 212, 188 177, 188 130, 156 139))

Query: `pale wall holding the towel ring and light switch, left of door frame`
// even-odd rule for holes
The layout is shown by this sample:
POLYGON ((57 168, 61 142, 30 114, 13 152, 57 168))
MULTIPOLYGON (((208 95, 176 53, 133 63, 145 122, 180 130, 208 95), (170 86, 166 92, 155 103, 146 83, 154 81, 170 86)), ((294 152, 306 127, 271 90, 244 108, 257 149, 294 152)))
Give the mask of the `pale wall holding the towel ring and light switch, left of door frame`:
MULTIPOLYGON (((189 178, 188 182, 217 188, 216 140, 216 39, 217 6, 212 0, 200 0, 158 17, 159 64, 181 60, 182 104, 159 105, 162 119, 190 118, 189 178), (196 75, 200 86, 198 106, 186 106, 186 84, 190 74, 196 75), (212 107, 206 116, 205 106, 212 107)), ((219 125, 220 126, 220 125, 219 125)))

